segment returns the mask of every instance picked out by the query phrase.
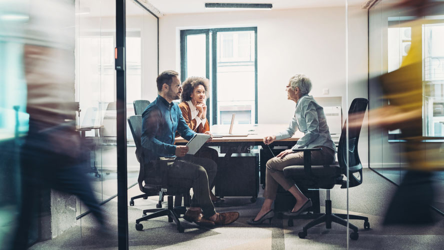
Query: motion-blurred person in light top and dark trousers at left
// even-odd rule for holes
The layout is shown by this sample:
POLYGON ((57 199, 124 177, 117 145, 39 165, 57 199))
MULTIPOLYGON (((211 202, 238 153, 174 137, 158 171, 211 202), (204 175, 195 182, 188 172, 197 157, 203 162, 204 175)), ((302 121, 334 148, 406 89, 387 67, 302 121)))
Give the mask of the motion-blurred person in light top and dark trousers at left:
POLYGON ((103 225, 99 204, 80 167, 84 152, 75 131, 73 1, 21 4, 29 15, 18 27, 24 40, 29 132, 20 153, 21 206, 13 249, 27 247, 33 211, 42 191, 49 188, 77 195, 103 225), (52 10, 41 11, 45 8, 52 10))

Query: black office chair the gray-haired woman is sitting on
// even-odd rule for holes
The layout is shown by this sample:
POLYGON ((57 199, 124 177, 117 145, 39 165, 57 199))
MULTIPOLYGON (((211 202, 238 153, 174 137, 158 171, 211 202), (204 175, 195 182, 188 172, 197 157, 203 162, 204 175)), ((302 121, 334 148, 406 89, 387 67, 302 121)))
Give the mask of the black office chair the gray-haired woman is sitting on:
MULTIPOLYGON (((321 148, 301 148, 293 149, 293 151, 303 151, 304 165, 303 166, 287 166, 283 168, 283 173, 286 177, 292 178, 296 183, 306 186, 308 188, 325 188, 326 200, 325 200, 325 213, 321 213, 321 216, 311 220, 303 226, 302 231, 298 233, 299 238, 304 238, 307 235, 307 229, 317 224, 325 222, 326 228, 331 228, 331 222, 336 222, 341 225, 347 226, 347 215, 339 213, 331 213, 331 200, 330 189, 335 184, 340 184, 341 188, 346 188, 346 180, 343 177, 348 177, 348 187, 354 187, 362 183, 362 165, 359 160, 357 152, 357 142, 359 140, 359 133, 361 129, 362 119, 364 117, 365 110, 367 108, 368 100, 365 98, 355 98, 348 110, 348 119, 350 124, 358 124, 354 127, 348 128, 348 145, 346 138, 346 123, 342 127, 340 134, 339 146, 337 148, 338 162, 334 165, 327 166, 312 166, 311 165, 311 151, 321 150, 321 148), (346 160, 348 151, 348 162, 346 160), (347 173, 347 163, 349 165, 347 173), (357 174, 357 178, 354 174, 357 174)), ((364 229, 370 228, 368 218, 359 215, 348 215, 349 219, 364 220, 364 229)), ((288 218, 288 225, 292 226, 292 217, 288 218)), ((351 223, 348 227, 353 230, 350 233, 351 239, 357 239, 359 237, 357 227, 351 223)))

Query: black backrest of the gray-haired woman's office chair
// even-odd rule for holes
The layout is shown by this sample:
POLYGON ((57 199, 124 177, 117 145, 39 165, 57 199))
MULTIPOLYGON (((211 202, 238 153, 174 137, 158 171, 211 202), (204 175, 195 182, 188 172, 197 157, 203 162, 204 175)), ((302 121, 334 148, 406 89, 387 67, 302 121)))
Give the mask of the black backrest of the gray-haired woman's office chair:
MULTIPOLYGON (((348 145, 347 145, 347 135, 346 135, 346 124, 348 120, 342 127, 342 132, 340 134, 339 146, 337 148, 337 161, 341 171, 345 176, 348 176, 349 187, 357 186, 362 183, 362 164, 359 159, 359 154, 357 152, 357 142, 359 140, 359 133, 362 126, 362 119, 367 109, 368 100, 365 98, 355 98, 350 104, 348 109, 348 145), (347 148, 348 146, 348 148, 347 148), (347 158, 348 151, 348 162, 347 158), (347 163, 349 166, 349 174, 347 173, 347 163), (358 172, 359 178, 356 178, 353 173, 358 172)), ((346 186, 341 186, 344 188, 346 186)))

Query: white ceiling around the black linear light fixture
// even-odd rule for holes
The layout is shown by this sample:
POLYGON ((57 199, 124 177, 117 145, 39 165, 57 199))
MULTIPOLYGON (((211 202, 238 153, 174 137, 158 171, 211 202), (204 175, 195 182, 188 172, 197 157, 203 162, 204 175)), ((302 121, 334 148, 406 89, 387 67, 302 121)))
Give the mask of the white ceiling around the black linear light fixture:
MULTIPOLYGON (((147 0, 162 14, 233 11, 232 9, 205 9, 205 2, 271 3, 272 9, 345 6, 345 0, 147 0)), ((361 5, 366 0, 348 0, 348 5, 361 5)), ((141 1, 143 2, 143 1, 141 1)))

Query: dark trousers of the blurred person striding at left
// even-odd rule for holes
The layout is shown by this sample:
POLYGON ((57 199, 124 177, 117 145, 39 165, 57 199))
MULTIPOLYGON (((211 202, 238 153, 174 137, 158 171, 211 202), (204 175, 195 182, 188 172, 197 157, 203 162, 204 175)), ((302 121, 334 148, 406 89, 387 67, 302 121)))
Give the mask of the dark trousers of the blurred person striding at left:
MULTIPOLYGON (((79 166, 81 159, 74 158, 67 152, 62 153, 54 140, 49 140, 45 133, 38 133, 33 122, 29 122, 29 133, 21 148, 21 207, 14 237, 14 249, 25 249, 28 242, 28 230, 33 219, 32 210, 40 205, 40 194, 49 188, 74 194, 80 198, 103 224, 103 215, 95 199, 91 185, 84 170, 79 166), (51 150, 54 148, 54 150, 51 150)), ((72 135, 63 130, 51 130, 59 138, 72 135)), ((75 150, 75 148, 72 148, 75 150)))

